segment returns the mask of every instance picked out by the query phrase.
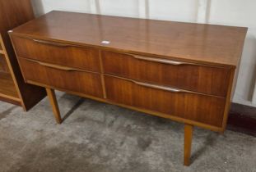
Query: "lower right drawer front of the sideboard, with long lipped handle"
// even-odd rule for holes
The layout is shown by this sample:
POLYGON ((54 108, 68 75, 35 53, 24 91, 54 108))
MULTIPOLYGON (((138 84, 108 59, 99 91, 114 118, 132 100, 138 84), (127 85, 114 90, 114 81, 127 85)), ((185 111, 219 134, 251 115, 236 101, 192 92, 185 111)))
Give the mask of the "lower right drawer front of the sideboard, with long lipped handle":
POLYGON ((221 127, 225 98, 105 75, 109 101, 221 127), (180 91, 180 92, 178 92, 180 91))

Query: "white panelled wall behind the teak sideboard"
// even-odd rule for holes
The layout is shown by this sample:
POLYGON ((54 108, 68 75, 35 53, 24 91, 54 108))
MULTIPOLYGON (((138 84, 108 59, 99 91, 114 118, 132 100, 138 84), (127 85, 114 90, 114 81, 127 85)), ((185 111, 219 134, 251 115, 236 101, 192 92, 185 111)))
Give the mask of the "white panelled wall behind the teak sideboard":
POLYGON ((249 27, 233 102, 256 106, 255 0, 32 0, 32 2, 37 16, 52 10, 62 10, 249 27))

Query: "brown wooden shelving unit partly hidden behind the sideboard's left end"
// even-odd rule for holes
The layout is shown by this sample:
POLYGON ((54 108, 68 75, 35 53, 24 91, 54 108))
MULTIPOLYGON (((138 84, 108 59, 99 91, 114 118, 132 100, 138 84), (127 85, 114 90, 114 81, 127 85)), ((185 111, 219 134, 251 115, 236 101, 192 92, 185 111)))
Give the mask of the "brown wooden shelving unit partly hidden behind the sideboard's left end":
POLYGON ((8 31, 34 17, 30 0, 0 0, 0 101, 22 106, 25 111, 46 93, 44 88, 25 83, 8 31))

